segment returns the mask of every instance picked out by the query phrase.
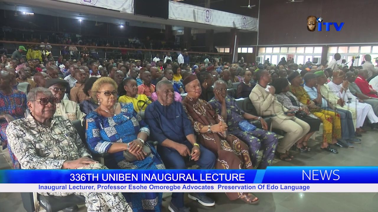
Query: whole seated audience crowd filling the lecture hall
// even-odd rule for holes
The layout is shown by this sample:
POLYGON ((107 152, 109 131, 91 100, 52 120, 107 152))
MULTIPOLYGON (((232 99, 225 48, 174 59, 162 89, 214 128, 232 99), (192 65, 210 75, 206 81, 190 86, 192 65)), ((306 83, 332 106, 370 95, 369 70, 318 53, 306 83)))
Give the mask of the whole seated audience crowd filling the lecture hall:
MULTIPOLYGON (((311 151, 308 140, 321 123, 320 149, 332 154, 361 143, 363 127, 378 123, 378 84, 369 84, 378 80, 378 71, 370 55, 362 67, 334 61, 299 66, 284 58, 277 66, 243 59, 189 66, 186 51, 178 62, 169 55, 101 62, 60 55, 41 64, 25 60, 24 49, 12 58, 3 55, 0 63, 0 142, 15 169, 185 169, 188 160, 199 169, 265 169, 275 155, 291 161, 291 149, 311 151), (249 98, 257 114, 243 111, 235 98, 249 98), (266 117, 282 133, 280 141, 266 117), (85 141, 73 127, 76 120, 83 123, 85 141), (148 140, 158 142, 156 149, 148 140), (104 164, 91 157, 103 153, 109 155, 104 164)), ((161 210, 161 193, 80 195, 88 211, 161 210)), ((259 202, 252 193, 226 195, 259 202)), ((203 193, 188 197, 215 204, 203 193)), ((169 210, 189 211, 183 193, 172 194, 169 210)))

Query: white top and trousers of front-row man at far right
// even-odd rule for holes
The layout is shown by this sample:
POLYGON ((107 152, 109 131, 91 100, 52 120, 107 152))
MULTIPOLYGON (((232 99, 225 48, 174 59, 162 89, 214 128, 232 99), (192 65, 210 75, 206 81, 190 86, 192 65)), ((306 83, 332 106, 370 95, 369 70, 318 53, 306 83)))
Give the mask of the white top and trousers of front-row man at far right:
POLYGON ((356 128, 360 128, 363 126, 365 118, 369 118, 369 121, 371 123, 378 123, 378 117, 375 115, 373 108, 370 104, 367 103, 360 103, 358 102, 357 97, 355 97, 350 91, 349 88, 347 91, 340 92, 341 84, 337 85, 333 83, 332 81, 329 82, 328 88, 330 88, 331 92, 334 92, 339 98, 342 98, 342 100, 345 101, 345 104, 348 106, 348 108, 354 108, 357 111, 357 123, 356 128), (347 103, 349 100, 348 98, 351 98, 350 102, 347 103))

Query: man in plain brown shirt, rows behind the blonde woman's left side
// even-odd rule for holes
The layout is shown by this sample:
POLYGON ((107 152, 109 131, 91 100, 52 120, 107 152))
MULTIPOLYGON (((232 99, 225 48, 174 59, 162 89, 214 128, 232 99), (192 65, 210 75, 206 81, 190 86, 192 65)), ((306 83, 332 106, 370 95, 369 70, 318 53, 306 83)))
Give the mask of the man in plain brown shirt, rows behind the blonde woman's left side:
POLYGON ((76 103, 82 103, 82 101, 89 99, 89 97, 83 91, 84 83, 87 81, 88 77, 85 75, 85 71, 83 69, 76 69, 73 74, 76 82, 75 86, 70 91, 70 100, 76 103))

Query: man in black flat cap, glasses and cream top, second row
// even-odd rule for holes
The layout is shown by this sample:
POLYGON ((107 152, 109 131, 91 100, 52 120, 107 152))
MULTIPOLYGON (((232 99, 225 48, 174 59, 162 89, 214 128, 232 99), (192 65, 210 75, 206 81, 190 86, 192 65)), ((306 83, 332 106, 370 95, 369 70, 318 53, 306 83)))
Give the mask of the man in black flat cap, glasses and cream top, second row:
POLYGON ((60 79, 48 79, 45 88, 48 88, 54 97, 57 98, 56 112, 54 115, 61 115, 69 120, 84 120, 85 114, 81 112, 79 104, 71 100, 64 100, 64 92, 68 86, 68 82, 60 79))

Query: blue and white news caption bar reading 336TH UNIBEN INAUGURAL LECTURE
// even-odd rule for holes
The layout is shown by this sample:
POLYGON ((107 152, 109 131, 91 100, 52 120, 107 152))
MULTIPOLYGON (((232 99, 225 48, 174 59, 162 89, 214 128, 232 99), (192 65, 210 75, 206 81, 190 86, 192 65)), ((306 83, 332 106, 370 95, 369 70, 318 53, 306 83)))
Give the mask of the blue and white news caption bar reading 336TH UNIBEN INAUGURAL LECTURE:
POLYGON ((378 167, 0 170, 0 192, 378 192, 378 167))

